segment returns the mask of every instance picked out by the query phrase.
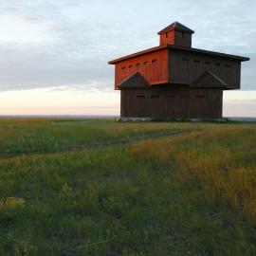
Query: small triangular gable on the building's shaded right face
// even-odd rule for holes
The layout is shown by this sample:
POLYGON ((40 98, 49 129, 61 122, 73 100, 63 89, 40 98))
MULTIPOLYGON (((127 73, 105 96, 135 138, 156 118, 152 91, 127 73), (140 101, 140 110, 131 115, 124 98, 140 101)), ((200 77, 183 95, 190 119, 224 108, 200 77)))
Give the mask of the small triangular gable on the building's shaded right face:
POLYGON ((221 80, 218 76, 210 72, 210 70, 206 70, 202 75, 200 75, 190 87, 220 87, 225 88, 227 83, 221 80))

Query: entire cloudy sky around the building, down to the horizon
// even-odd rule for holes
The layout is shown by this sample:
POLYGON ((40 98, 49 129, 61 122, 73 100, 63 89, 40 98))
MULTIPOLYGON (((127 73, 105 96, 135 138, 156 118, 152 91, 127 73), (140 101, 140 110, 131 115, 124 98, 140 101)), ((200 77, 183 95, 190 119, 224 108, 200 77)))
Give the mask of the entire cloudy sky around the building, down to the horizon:
POLYGON ((119 115, 114 66, 179 21, 192 46, 250 57, 225 116, 256 117, 255 0, 0 0, 0 115, 119 115))

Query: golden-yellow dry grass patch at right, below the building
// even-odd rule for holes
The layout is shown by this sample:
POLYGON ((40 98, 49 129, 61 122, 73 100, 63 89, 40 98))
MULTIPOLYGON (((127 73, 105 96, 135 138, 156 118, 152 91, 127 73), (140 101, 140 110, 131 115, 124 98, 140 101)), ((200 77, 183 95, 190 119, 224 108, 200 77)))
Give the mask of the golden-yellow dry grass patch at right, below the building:
POLYGON ((214 199, 256 219, 255 126, 218 127, 141 142, 136 155, 177 166, 180 181, 196 179, 214 199))

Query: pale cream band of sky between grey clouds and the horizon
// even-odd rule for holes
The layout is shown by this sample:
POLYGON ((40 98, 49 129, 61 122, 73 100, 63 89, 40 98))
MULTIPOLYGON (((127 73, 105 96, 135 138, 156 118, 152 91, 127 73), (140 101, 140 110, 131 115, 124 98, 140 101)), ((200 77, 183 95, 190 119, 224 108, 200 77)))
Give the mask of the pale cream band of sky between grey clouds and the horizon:
MULTIPOLYGON (((224 117, 256 118, 256 91, 224 91, 224 117)), ((37 88, 0 93, 3 115, 110 115, 119 116, 119 91, 37 88), (15 104, 13 104, 15 101, 15 104)))

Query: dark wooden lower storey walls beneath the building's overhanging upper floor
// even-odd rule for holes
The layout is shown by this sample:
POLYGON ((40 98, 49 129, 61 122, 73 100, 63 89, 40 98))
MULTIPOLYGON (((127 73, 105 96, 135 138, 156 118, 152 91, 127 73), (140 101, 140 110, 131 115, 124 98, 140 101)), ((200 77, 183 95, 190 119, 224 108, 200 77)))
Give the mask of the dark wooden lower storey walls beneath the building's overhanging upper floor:
POLYGON ((121 89, 121 118, 222 118, 221 88, 161 86, 121 89))

